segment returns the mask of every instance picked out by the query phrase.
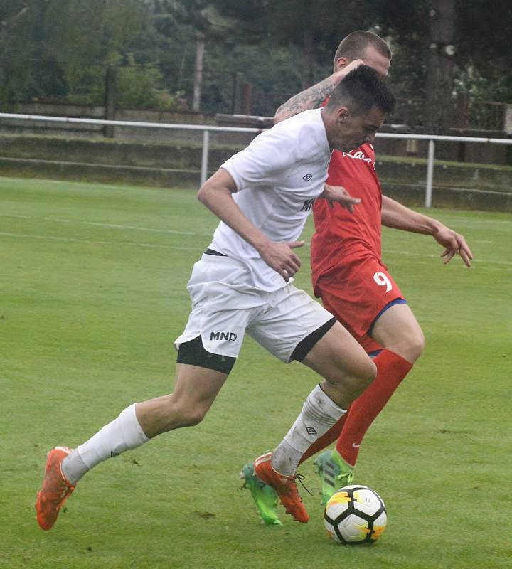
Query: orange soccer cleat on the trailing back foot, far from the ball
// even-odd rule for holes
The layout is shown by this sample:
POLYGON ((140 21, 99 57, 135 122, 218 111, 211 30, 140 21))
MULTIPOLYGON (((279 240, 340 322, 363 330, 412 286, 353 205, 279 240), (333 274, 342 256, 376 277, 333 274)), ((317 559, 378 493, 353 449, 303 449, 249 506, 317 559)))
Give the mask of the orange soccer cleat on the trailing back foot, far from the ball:
POLYGON ((71 450, 68 447, 55 447, 48 452, 43 486, 36 499, 37 521, 41 529, 46 531, 53 528, 60 509, 75 489, 60 469, 60 464, 71 450))

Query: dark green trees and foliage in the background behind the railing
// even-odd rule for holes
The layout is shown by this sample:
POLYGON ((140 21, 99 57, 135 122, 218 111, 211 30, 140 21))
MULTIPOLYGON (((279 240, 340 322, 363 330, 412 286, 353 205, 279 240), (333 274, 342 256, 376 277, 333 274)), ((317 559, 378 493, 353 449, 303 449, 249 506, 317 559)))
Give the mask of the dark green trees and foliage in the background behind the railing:
MULTIPOLYGON (((233 73, 282 100, 328 75, 338 42, 356 29, 390 41, 396 95, 422 97, 431 7, 430 0, 0 0, 0 105, 102 105, 105 70, 118 65, 120 106, 190 107, 202 33, 201 109, 229 112, 233 73)), ((508 0, 454 0, 454 8, 454 91, 512 102, 508 0)))

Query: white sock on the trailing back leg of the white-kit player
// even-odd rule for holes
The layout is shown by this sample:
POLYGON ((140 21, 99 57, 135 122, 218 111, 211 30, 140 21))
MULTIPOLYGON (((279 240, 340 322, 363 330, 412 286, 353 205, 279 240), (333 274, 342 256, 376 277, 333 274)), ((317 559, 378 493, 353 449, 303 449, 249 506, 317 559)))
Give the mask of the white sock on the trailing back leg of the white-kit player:
POLYGON ((61 465, 64 476, 76 484, 82 476, 104 460, 134 449, 148 442, 148 437, 135 415, 137 403, 124 409, 117 419, 93 435, 83 445, 75 448, 61 465))

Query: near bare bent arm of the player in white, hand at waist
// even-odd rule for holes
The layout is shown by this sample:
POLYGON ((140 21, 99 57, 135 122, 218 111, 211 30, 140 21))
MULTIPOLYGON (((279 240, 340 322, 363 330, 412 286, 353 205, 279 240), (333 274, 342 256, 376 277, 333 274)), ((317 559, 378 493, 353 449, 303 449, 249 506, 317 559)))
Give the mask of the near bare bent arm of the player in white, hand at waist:
POLYGON ((237 191, 233 177, 224 169, 219 169, 198 191, 198 200, 220 220, 238 233, 242 239, 260 253, 269 267, 277 271, 288 282, 300 268, 301 261, 292 249, 302 247, 304 241, 275 243, 248 220, 237 203, 233 193, 237 191))

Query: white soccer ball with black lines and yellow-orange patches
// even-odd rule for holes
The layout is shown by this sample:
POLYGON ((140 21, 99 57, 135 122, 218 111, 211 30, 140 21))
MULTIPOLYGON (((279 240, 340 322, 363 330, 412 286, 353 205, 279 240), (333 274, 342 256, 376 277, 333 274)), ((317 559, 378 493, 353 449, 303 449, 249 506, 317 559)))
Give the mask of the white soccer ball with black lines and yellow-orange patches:
POLYGON ((377 492, 358 484, 336 491, 324 512, 327 533, 346 546, 375 542, 387 521, 384 502, 377 492))

